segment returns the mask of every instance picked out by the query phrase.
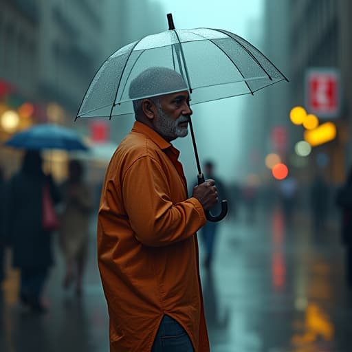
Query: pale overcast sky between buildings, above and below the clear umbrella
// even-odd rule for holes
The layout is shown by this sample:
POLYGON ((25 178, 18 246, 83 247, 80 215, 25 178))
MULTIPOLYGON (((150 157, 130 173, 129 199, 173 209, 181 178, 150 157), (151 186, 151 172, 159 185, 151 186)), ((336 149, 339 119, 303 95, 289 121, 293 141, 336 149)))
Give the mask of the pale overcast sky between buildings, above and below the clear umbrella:
MULTIPOLYGON (((261 32, 263 0, 154 1, 162 4, 165 14, 173 14, 176 29, 220 28, 243 36, 251 43, 257 40, 252 36, 261 32)), ((242 97, 235 97, 195 105, 193 109, 199 158, 201 161, 216 160, 217 172, 227 181, 237 178, 236 160, 243 152, 240 126, 245 118, 243 101, 242 97)), ((181 150, 181 161, 188 179, 192 178, 192 175, 196 177, 195 157, 190 152, 190 136, 178 139, 174 144, 181 150)))

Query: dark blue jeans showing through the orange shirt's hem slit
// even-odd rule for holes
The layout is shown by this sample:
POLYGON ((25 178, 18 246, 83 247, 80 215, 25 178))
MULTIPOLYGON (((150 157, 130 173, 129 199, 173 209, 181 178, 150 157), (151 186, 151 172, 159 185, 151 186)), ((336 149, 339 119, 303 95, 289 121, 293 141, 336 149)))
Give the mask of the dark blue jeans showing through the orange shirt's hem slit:
POLYGON ((151 352, 193 352, 193 347, 185 329, 173 318, 164 316, 151 352))

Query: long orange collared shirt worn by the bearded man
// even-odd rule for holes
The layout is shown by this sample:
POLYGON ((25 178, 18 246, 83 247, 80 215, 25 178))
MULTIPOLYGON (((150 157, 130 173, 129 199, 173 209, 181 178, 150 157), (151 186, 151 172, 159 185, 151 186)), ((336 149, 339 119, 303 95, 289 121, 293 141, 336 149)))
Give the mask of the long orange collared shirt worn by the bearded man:
POLYGON ((178 155, 135 122, 107 168, 98 263, 111 351, 151 351, 164 314, 184 327, 195 352, 209 351, 195 236, 206 217, 201 203, 187 197, 178 155))

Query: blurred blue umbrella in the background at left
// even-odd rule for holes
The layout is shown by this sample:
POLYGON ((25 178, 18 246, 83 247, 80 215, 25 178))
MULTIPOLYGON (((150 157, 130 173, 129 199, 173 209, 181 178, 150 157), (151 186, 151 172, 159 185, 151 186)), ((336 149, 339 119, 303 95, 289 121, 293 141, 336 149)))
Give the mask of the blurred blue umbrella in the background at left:
POLYGON ((80 137, 67 127, 56 124, 37 124, 13 135, 5 146, 23 149, 64 149, 65 151, 87 151, 80 137))

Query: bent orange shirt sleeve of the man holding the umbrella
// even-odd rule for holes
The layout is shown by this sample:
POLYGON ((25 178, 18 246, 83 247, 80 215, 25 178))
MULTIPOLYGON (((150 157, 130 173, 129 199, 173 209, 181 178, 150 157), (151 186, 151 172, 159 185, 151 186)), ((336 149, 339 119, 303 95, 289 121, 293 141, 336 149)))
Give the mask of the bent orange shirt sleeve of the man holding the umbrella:
MULTIPOLYGON (((181 185, 183 187, 183 185, 181 185)), ((122 179, 124 207, 138 241, 150 246, 170 245, 192 236, 206 223, 195 198, 173 203, 162 166, 150 156, 137 159, 122 179)))

